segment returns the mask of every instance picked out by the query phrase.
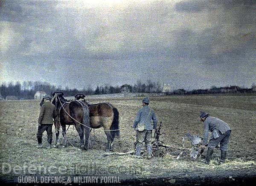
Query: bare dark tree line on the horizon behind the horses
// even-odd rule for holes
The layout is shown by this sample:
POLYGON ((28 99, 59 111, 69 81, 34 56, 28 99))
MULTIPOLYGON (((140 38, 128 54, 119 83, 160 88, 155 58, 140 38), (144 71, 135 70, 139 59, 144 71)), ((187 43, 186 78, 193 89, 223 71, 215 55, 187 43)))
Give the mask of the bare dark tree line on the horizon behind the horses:
POLYGON ((37 91, 43 91, 47 94, 51 94, 55 91, 61 91, 64 93, 65 96, 74 96, 77 93, 83 93, 85 95, 121 93, 124 89, 128 90, 128 92, 131 93, 162 92, 161 84, 159 81, 154 82, 148 79, 146 82, 138 80, 137 84, 134 85, 98 85, 96 89, 93 88, 91 85, 88 85, 82 90, 78 90, 76 88, 70 89, 69 87, 65 87, 64 89, 62 89, 61 86, 56 87, 55 85, 42 81, 23 81, 23 83, 17 81, 16 83, 9 82, 8 84, 1 84, 0 93, 3 98, 6 98, 6 96, 16 96, 18 99, 34 99, 34 95, 37 91))

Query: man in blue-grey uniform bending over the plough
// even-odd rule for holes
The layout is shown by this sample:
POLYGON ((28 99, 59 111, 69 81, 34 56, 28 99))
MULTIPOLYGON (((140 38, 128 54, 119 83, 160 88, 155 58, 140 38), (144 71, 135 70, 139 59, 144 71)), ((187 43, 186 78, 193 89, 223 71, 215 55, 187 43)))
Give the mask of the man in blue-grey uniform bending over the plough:
POLYGON ((212 136, 209 139, 208 150, 206 155, 206 164, 209 164, 211 161, 213 148, 215 148, 219 143, 221 146, 221 161, 220 164, 224 163, 227 157, 227 145, 229 137, 231 134, 231 129, 229 125, 218 119, 216 117, 209 116, 208 113, 201 112, 200 114, 201 121, 204 122, 204 139, 202 142, 202 148, 205 148, 207 145, 208 133, 212 132, 212 136))

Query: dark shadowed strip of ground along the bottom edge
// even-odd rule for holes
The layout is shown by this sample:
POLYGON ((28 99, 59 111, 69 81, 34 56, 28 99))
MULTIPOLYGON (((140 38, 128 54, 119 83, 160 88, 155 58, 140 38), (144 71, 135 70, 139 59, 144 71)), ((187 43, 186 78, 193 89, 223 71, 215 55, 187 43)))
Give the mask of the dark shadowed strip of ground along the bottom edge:
MULTIPOLYGON (((38 176, 38 179, 40 176, 38 176)), ((73 179, 73 178, 72 178, 73 179)), ((155 186, 254 186, 256 183, 256 173, 254 171, 226 171, 226 172, 212 172, 211 175, 207 173, 205 175, 204 173, 196 173, 195 175, 189 175, 189 176, 173 176, 170 177, 170 175, 166 175, 165 177, 158 177, 158 178, 140 178, 140 179, 134 179, 130 178, 127 180, 119 180, 119 183, 17 183, 12 182, 12 180, 6 180, 5 178, 1 178, 1 183, 4 183, 4 185, 7 186, 49 186, 49 185, 68 185, 68 186, 80 186, 80 185, 114 185, 114 186, 132 186, 132 185, 155 185, 155 186), (232 175, 232 176, 231 176, 232 175)))

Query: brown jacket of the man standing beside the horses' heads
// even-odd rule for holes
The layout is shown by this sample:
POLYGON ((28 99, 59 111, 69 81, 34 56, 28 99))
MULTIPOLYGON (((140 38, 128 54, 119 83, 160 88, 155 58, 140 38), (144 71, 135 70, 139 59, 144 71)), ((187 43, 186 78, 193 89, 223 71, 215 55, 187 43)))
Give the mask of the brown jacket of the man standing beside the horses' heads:
POLYGON ((52 124, 53 119, 57 116, 55 106, 51 102, 45 102, 40 110, 38 124, 52 124))

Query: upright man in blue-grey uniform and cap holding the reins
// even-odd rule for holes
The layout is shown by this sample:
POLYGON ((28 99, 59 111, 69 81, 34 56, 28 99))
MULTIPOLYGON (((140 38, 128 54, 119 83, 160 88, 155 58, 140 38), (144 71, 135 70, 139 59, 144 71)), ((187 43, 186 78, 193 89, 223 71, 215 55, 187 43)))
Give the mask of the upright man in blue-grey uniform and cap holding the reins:
POLYGON ((157 129, 157 117, 155 116, 154 110, 148 107, 149 99, 143 98, 142 106, 138 112, 137 116, 134 119, 134 124, 132 128, 136 130, 136 153, 135 157, 140 158, 140 151, 143 145, 143 141, 145 142, 147 148, 147 157, 151 158, 151 138, 152 138, 152 130, 157 129), (153 123, 151 123, 153 120, 153 123), (144 130, 139 131, 137 127, 138 124, 143 124, 144 130))

